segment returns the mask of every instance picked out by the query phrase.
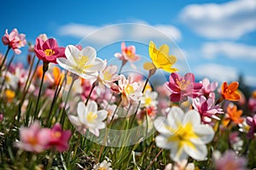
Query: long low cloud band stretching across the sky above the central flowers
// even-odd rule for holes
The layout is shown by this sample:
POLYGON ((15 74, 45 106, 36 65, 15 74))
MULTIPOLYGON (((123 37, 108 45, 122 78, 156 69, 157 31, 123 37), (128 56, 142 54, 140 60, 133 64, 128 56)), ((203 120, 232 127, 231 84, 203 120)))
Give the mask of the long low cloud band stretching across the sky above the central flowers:
POLYGON ((148 25, 143 20, 137 20, 137 23, 118 24, 107 26, 90 26, 70 23, 61 26, 59 33, 61 36, 90 38, 92 42, 105 43, 120 41, 123 39, 150 40, 172 38, 179 41, 182 38, 181 31, 171 25, 148 25), (103 29, 102 29, 103 28, 103 29))

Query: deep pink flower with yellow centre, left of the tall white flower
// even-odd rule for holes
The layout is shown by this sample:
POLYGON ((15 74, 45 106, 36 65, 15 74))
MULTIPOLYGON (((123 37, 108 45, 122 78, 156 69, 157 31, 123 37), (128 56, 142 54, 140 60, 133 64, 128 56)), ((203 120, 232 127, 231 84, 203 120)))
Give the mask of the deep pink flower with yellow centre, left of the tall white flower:
POLYGON ((58 47, 58 43, 54 38, 49 38, 44 41, 38 37, 34 50, 38 59, 42 59, 46 63, 56 64, 57 58, 65 57, 65 48, 58 47))

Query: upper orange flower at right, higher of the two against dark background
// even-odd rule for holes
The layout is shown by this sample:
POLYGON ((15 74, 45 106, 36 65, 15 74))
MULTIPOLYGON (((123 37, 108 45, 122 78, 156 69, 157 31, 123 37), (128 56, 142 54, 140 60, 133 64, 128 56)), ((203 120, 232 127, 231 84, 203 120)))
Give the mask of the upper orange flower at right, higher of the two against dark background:
POLYGON ((223 98, 230 101, 238 101, 240 99, 240 95, 237 90, 238 85, 238 82, 231 82, 230 85, 228 85, 227 82, 224 82, 221 87, 221 94, 223 98))

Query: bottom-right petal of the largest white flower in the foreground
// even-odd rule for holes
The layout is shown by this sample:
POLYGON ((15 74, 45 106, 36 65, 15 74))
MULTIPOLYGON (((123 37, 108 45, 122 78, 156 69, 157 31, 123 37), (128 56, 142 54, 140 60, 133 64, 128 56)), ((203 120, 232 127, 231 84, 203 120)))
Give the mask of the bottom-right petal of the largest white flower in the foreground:
POLYGON ((207 156, 207 146, 205 144, 194 144, 195 148, 191 148, 189 145, 184 145, 184 150, 189 156, 197 161, 202 161, 207 156))

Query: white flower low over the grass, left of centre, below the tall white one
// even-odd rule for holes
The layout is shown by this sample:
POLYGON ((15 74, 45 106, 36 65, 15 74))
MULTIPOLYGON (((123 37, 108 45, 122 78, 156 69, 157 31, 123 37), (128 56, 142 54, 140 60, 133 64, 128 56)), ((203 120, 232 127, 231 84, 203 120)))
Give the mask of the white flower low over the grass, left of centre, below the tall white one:
POLYGON ((97 111, 95 101, 91 101, 87 106, 83 102, 79 102, 78 116, 68 116, 70 121, 79 128, 79 131, 84 132, 86 128, 90 133, 99 136, 99 129, 105 128, 106 123, 103 122, 108 116, 108 111, 97 111))

